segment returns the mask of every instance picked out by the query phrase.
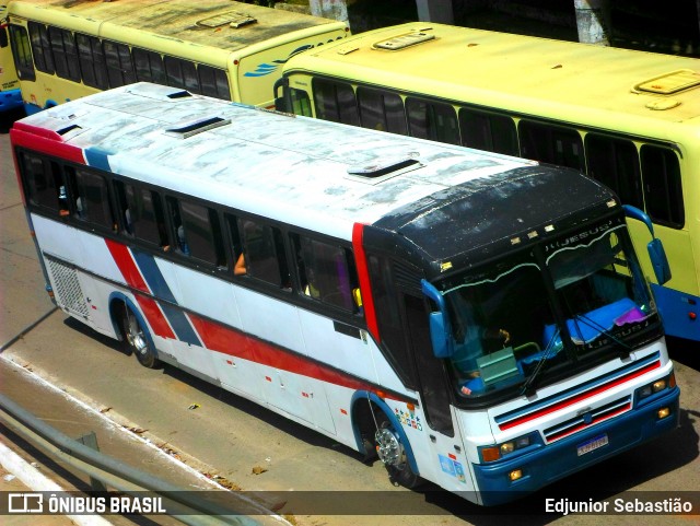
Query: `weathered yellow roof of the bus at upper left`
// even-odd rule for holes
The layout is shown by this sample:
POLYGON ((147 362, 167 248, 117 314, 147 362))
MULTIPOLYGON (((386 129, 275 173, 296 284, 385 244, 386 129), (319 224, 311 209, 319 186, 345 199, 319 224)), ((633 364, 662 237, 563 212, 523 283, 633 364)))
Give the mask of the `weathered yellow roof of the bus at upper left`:
POLYGON ((233 0, 14 0, 10 14, 54 25, 109 22, 229 52, 307 27, 341 24, 233 0))

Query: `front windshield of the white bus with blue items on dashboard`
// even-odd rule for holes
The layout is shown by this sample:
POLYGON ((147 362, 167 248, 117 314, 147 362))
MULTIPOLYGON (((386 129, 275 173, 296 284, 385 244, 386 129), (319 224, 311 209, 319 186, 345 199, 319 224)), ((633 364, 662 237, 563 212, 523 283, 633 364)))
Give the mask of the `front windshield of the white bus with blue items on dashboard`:
POLYGON ((525 390, 629 352, 656 313, 621 225, 536 246, 445 284, 447 362, 463 400, 525 390))

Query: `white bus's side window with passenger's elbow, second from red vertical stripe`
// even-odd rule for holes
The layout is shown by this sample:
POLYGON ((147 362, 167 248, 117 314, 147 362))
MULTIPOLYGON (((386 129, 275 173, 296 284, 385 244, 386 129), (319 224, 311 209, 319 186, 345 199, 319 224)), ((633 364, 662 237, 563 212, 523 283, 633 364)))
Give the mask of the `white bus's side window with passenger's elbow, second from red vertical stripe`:
POLYGON ((240 220, 247 274, 281 289, 290 289, 284 242, 279 229, 253 220, 240 220))

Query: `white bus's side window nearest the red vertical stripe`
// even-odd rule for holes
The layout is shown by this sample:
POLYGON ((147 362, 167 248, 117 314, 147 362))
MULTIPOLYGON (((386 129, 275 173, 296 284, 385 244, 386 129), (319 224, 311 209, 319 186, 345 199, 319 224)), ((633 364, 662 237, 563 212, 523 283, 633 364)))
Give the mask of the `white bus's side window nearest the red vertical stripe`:
POLYGON ((354 312, 352 291, 358 277, 348 249, 292 234, 299 281, 305 297, 354 312))

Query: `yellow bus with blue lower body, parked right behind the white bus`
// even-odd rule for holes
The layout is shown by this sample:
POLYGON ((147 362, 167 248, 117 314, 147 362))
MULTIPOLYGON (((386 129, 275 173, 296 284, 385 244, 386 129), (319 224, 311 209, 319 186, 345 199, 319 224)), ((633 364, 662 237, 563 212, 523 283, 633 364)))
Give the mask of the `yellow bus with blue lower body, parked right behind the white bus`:
POLYGON ((294 57, 275 93, 285 112, 586 172, 651 218, 666 331, 700 340, 698 59, 409 23, 294 57))

